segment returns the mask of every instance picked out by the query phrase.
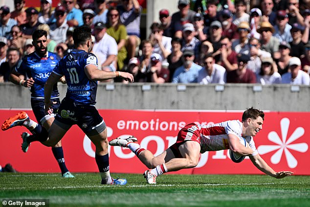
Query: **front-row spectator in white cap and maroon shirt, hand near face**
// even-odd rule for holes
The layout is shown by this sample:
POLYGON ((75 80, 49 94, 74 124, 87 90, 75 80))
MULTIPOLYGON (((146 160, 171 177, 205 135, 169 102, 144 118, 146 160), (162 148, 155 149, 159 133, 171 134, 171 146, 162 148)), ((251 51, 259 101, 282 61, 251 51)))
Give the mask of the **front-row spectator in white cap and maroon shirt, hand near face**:
POLYGON ((162 67, 161 55, 153 53, 151 55, 151 69, 147 74, 147 82, 167 83, 169 82, 169 70, 162 67))

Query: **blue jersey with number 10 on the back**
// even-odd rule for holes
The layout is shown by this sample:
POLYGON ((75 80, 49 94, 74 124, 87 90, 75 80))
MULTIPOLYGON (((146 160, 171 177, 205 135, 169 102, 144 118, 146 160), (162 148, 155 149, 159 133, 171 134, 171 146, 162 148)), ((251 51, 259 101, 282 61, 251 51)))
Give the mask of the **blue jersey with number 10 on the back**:
POLYGON ((97 57, 84 50, 72 49, 54 69, 57 75, 65 75, 68 85, 66 98, 81 104, 96 103, 97 82, 89 80, 84 68, 93 64, 98 67, 97 57))

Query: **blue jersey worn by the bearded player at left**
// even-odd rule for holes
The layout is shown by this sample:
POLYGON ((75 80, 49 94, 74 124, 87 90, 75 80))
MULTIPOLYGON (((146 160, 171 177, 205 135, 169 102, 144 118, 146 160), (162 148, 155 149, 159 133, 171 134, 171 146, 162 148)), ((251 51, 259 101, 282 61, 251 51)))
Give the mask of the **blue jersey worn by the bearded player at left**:
MULTIPOLYGON (((31 87, 31 98, 44 99, 44 84, 60 60, 60 57, 53 52, 47 52, 46 57, 40 57, 36 52, 24 56, 16 65, 15 70, 19 73, 26 73, 28 78, 33 78, 34 84, 31 87)), ((57 84, 53 86, 51 98, 58 98, 57 84)))

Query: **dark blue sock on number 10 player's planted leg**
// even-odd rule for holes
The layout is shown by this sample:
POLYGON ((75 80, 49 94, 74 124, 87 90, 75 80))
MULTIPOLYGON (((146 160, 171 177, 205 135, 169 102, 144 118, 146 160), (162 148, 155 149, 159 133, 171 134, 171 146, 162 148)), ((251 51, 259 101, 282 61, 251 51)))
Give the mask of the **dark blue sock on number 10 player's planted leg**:
POLYGON ((109 154, 106 155, 95 154, 95 160, 100 172, 101 184, 111 184, 112 178, 110 175, 109 154))

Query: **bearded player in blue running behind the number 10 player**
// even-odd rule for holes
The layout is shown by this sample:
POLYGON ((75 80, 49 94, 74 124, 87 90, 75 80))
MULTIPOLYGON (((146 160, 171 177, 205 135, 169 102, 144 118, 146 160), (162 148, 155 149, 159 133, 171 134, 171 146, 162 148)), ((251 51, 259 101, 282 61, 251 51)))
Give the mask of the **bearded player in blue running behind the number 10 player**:
MULTIPOLYGON (((42 126, 48 130, 54 121, 54 114, 48 115, 44 110, 44 84, 48 76, 53 71, 54 67, 60 60, 60 57, 53 52, 47 51, 47 32, 44 30, 36 30, 32 34, 32 45, 35 46, 35 51, 23 57, 18 63, 15 69, 12 70, 9 80, 17 85, 21 85, 26 88, 30 88, 31 91, 31 108, 36 116, 36 119, 42 126), (28 79, 22 80, 19 76, 21 74, 27 74, 28 79)), ((59 92, 57 84, 53 86, 52 100, 56 103, 53 109, 56 109, 60 105, 59 92)), ((23 133, 22 151, 27 152, 30 144, 25 142, 25 138, 28 137, 28 133, 23 133)), ((61 141, 55 143, 52 146, 52 152, 56 161, 59 164, 63 177, 74 177, 66 168, 64 151, 61 141)))

